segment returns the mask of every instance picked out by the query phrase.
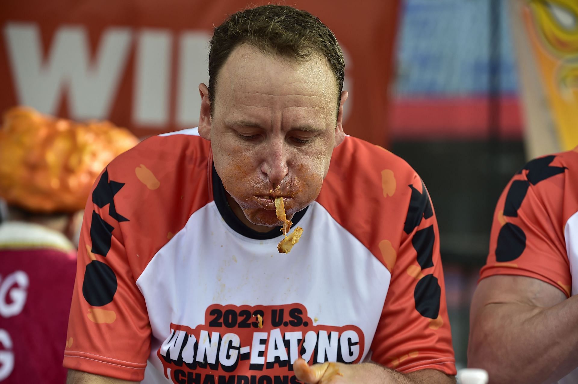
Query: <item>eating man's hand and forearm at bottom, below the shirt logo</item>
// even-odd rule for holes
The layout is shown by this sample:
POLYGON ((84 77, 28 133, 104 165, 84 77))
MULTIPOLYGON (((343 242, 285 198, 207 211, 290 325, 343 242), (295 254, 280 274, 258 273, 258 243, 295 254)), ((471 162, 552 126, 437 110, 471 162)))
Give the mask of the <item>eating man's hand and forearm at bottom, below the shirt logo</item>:
POLYGON ((420 370, 407 375, 373 363, 323 363, 307 365, 298 359, 293 364, 295 376, 306 384, 442 384, 455 379, 435 370, 420 370))

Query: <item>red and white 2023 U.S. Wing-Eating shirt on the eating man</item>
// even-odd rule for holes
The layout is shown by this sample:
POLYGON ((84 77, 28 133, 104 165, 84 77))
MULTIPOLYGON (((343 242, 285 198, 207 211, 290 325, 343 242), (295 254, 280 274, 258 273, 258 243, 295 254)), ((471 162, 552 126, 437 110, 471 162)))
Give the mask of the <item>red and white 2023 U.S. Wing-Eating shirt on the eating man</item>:
POLYGON ((346 137, 303 228, 231 211, 189 129, 115 159, 87 203, 64 366, 139 381, 297 383, 292 363, 373 360, 455 374, 435 214, 402 159, 346 137))

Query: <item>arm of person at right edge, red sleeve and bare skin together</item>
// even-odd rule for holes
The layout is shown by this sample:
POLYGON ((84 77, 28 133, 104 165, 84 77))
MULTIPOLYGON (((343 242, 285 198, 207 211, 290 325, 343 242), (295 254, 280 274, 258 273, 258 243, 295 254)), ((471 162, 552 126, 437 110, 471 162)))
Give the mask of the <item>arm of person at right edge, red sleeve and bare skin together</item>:
POLYGON ((565 156, 529 162, 498 200, 468 346, 468 366, 486 369, 492 383, 555 382, 578 366, 564 236, 577 204, 565 156))

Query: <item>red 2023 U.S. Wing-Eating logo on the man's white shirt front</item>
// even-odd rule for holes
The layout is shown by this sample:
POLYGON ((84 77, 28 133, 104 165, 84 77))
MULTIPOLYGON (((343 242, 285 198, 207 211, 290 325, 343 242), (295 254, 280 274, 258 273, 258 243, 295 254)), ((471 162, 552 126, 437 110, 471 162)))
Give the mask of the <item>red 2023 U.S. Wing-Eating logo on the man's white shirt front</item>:
POLYGON ((177 384, 294 384, 295 360, 358 363, 364 334, 353 325, 316 325, 302 304, 220 305, 192 329, 171 324, 157 356, 177 384))

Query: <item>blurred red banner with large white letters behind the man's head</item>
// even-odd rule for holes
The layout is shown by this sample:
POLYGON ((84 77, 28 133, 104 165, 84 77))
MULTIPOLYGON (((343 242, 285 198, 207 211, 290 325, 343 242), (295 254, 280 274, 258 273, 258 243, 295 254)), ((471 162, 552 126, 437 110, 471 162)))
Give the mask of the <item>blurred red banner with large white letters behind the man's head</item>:
MULTIPOLYGON (((0 110, 106 119, 139 136, 195 126, 212 29, 247 1, 2 2, 0 110)), ((399 0, 290 5, 320 17, 346 54, 346 132, 386 145, 399 0)))

